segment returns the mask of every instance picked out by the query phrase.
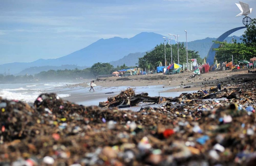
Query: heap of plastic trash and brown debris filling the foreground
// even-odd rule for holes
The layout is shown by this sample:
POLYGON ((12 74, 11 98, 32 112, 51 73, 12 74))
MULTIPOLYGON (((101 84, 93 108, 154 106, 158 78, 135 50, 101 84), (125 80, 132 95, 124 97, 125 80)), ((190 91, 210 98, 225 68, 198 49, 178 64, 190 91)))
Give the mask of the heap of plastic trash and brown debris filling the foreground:
MULTIPOLYGON (((138 112, 0 98, 0 165, 253 165, 255 82, 138 112), (239 98, 219 97, 236 91, 239 98)), ((209 92, 210 93, 210 92, 209 92)), ((228 96, 228 95, 226 95, 228 96)))

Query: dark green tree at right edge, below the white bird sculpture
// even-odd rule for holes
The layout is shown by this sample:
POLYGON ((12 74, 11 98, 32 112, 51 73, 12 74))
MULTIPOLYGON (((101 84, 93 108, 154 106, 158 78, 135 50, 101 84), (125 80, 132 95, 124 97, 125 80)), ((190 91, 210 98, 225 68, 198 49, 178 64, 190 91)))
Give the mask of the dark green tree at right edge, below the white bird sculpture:
POLYGON ((252 19, 251 25, 244 31, 243 42, 246 46, 256 47, 256 18, 252 19))

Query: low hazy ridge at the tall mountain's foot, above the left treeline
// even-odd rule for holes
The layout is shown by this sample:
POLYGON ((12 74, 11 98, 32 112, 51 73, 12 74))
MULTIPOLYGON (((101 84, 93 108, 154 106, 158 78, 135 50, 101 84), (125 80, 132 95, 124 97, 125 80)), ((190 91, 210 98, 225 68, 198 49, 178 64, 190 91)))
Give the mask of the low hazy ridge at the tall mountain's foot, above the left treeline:
POLYGON ((65 70, 65 69, 75 69, 75 68, 78 68, 78 69, 85 69, 85 68, 88 68, 86 66, 77 66, 77 65, 61 65, 61 66, 40 66, 40 67, 29 67, 29 68, 26 68, 24 70, 22 70, 21 72, 19 72, 17 75, 25 75, 25 74, 31 74, 31 75, 34 75, 34 74, 37 74, 37 73, 40 73, 42 71, 48 71, 48 70, 65 70))

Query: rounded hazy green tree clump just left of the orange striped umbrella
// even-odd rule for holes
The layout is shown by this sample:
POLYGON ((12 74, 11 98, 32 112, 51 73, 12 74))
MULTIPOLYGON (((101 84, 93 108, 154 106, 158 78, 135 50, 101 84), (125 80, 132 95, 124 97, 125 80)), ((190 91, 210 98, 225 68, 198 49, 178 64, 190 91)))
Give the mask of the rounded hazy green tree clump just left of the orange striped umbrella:
POLYGON ((92 65, 91 71, 94 76, 111 74, 114 66, 110 63, 98 62, 92 65))

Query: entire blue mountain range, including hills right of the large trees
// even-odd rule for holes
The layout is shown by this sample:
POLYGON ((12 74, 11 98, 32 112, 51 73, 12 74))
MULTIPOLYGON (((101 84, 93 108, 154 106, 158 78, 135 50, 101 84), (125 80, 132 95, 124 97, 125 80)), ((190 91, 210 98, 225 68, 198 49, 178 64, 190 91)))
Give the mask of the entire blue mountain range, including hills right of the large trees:
MULTIPOLYGON (((110 62, 113 66, 123 65, 135 66, 138 57, 145 55, 146 51, 152 50, 157 44, 163 42, 163 35, 153 32, 142 32, 132 38, 114 37, 110 39, 100 39, 89 46, 75 51, 66 56, 56 59, 39 59, 33 62, 14 62, 0 65, 0 74, 5 69, 10 69, 10 74, 35 74, 36 72, 49 69, 79 69, 92 66, 97 62, 110 62), (66 65, 66 66, 65 66, 66 65), (83 67, 81 67, 83 66, 83 67)), ((240 37, 234 36, 237 42, 240 37)), ((231 41, 232 37, 226 40, 231 41)), ((199 51, 201 57, 205 57, 210 49, 212 41, 216 38, 205 38, 188 42, 188 49, 199 51)))

